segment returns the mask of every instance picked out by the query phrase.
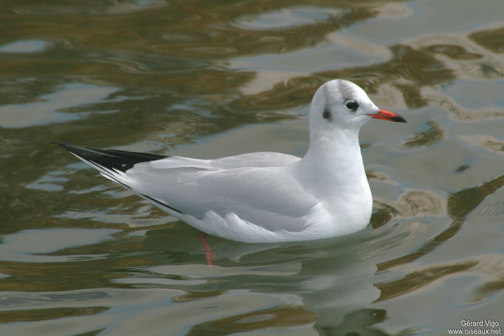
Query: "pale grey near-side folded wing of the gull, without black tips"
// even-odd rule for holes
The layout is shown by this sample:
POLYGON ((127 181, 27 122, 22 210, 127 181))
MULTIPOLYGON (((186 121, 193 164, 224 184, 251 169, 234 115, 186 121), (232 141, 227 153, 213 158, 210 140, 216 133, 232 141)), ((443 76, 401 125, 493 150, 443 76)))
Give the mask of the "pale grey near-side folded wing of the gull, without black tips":
POLYGON ((126 175, 135 192, 182 214, 202 219, 210 210, 221 217, 234 213, 271 231, 301 231, 304 216, 318 204, 289 174, 276 167, 158 169, 141 163, 126 175))

